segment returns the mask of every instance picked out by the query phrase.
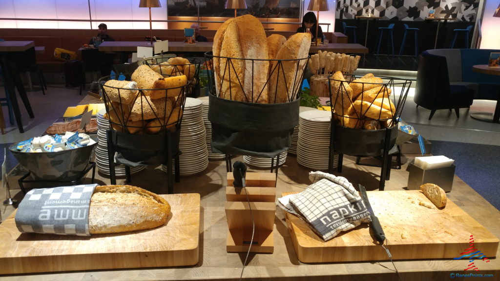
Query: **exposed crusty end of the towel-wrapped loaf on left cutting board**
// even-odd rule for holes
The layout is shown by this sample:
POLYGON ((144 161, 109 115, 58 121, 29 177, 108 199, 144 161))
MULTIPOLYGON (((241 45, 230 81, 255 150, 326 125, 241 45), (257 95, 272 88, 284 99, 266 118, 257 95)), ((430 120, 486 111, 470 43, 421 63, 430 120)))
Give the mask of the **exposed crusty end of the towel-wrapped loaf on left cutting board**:
POLYGON ((131 185, 95 187, 90 199, 90 234, 143 230, 165 224, 170 205, 161 196, 131 185))

